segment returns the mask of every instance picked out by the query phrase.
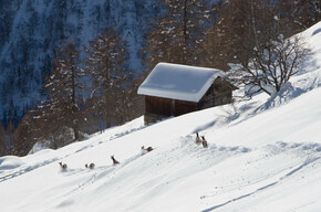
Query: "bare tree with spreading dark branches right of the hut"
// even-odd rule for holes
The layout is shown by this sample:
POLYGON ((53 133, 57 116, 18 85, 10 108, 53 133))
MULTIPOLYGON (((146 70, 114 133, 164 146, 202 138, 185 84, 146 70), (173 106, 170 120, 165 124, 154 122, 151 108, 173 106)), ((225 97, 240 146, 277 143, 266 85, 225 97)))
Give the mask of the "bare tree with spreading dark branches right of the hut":
POLYGON ((228 77, 238 86, 248 86, 248 94, 263 91, 278 93, 291 76, 301 72, 300 65, 309 55, 302 39, 286 39, 282 34, 255 46, 248 64, 231 64, 228 77))

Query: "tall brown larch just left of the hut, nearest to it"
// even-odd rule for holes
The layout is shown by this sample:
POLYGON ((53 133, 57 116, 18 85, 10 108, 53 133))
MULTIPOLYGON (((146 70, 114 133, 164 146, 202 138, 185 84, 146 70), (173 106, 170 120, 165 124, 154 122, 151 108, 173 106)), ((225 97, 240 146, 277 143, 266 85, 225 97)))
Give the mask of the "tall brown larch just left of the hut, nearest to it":
POLYGON ((91 106, 102 119, 101 129, 108 128, 116 123, 120 100, 124 96, 126 81, 124 61, 127 54, 126 43, 111 26, 105 33, 90 41, 85 47, 87 59, 85 70, 92 78, 91 106))

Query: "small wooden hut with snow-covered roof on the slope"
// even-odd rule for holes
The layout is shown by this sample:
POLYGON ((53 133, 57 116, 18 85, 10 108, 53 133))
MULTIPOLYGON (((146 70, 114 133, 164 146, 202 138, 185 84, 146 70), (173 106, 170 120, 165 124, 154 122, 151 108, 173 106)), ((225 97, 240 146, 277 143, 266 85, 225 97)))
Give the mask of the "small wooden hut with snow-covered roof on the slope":
POLYGON ((158 63, 138 88, 145 125, 231 102, 234 85, 215 68, 158 63))

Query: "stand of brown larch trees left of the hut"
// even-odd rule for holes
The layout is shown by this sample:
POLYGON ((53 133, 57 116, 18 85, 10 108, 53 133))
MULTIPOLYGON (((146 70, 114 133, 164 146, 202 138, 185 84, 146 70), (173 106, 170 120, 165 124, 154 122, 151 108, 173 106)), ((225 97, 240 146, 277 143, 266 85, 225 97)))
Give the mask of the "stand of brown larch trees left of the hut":
POLYGON ((142 114, 136 106, 142 81, 126 67, 126 43, 113 28, 89 46, 69 40, 56 55, 43 85, 46 100, 27 113, 18 128, 12 121, 7 129, 0 125, 1 155, 25 155, 35 142, 56 149, 142 114))

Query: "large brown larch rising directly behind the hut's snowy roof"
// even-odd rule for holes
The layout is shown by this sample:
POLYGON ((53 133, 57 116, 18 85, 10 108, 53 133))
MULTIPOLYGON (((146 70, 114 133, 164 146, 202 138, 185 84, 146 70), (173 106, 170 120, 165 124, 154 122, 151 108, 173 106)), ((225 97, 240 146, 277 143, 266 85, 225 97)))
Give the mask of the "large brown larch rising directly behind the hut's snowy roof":
POLYGON ((164 15, 154 20, 143 52, 144 63, 159 62, 195 65, 198 44, 215 19, 215 7, 206 0, 164 0, 164 15))

